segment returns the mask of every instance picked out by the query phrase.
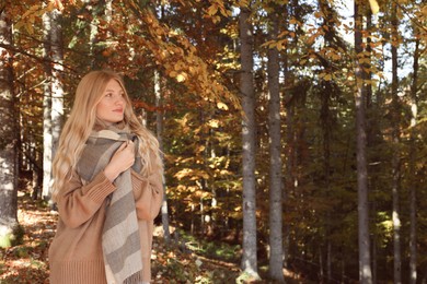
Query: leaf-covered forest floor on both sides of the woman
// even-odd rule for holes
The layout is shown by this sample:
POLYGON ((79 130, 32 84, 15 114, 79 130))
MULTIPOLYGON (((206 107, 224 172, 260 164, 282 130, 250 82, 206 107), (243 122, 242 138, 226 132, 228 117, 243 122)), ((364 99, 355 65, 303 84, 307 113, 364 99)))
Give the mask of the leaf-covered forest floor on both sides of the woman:
MULTIPOLYGON (((0 248, 0 284, 48 283, 47 251, 55 235, 57 213, 42 201, 19 193, 18 217, 23 227, 22 245, 0 248)), ((154 232, 152 251, 153 283, 272 283, 249 281, 241 275, 238 261, 198 253, 197 244, 178 240, 166 246, 162 229, 154 232)), ((217 245, 215 245, 217 246, 217 245)), ((219 251, 220 247, 211 247, 219 251)), ((233 256, 234 259, 236 256, 233 256)), ((287 271, 284 271, 288 273, 287 271)), ((301 283, 287 274, 292 283, 301 283)))

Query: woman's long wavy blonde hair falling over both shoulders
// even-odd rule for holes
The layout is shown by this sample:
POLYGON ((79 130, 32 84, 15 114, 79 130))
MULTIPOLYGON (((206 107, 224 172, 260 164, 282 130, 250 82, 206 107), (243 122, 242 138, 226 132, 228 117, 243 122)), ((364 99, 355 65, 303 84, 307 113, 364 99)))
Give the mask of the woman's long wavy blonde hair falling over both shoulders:
POLYGON ((67 181, 66 179, 70 178, 70 174, 76 169, 84 143, 97 122, 96 105, 111 80, 116 80, 125 93, 126 107, 123 122, 129 127, 130 132, 139 137, 139 152, 143 164, 141 174, 147 177, 151 173, 163 168, 159 153, 159 142, 136 117, 120 75, 109 70, 92 71, 84 75, 77 86, 72 109, 59 138, 53 163, 54 184, 51 193, 54 201, 57 201, 58 192, 67 181))

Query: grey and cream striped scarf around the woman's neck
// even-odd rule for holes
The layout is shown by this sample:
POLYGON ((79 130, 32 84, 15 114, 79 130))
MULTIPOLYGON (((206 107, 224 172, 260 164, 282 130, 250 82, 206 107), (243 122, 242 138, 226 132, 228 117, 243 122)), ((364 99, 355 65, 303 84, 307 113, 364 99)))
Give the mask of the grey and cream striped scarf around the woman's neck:
MULTIPOLYGON (((122 143, 138 139, 127 128, 93 131, 77 165, 80 177, 91 181, 111 161, 122 143)), ((134 170, 141 170, 141 157, 135 151, 134 170)), ((114 185, 117 189, 108 197, 102 248, 108 284, 139 283, 141 281, 141 245, 132 193, 130 169, 122 173, 114 185)))

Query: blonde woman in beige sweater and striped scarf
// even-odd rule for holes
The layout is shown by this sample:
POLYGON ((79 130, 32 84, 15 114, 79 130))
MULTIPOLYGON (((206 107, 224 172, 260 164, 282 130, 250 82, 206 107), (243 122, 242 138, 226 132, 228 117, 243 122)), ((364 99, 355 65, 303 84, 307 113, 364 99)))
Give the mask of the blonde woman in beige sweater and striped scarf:
POLYGON ((54 158, 51 284, 150 282, 162 170, 158 141, 135 116, 122 78, 88 73, 54 158))

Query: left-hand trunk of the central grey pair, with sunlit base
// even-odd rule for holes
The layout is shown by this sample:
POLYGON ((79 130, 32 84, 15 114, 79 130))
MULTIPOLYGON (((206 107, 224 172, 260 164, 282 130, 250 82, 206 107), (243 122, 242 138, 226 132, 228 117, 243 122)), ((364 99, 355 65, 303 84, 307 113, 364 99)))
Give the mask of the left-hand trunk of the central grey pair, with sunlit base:
POLYGON ((239 19, 241 39, 241 94, 244 118, 243 143, 243 256, 242 270, 254 279, 257 272, 256 244, 256 186, 255 186, 255 94, 253 82, 253 38, 251 11, 241 9, 239 19))

